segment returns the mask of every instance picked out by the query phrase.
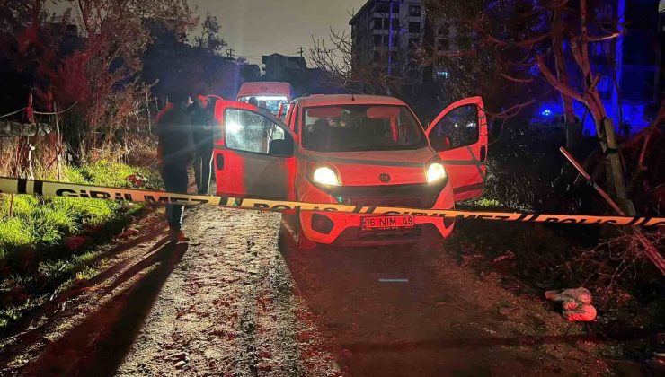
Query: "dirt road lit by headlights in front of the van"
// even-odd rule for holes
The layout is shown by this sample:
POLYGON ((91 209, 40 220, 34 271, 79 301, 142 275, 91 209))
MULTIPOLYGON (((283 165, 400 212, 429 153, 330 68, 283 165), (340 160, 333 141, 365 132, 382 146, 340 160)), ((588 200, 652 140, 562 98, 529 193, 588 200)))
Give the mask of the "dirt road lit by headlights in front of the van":
POLYGON ((145 219, 102 274, 11 340, 0 373, 608 373, 579 326, 459 266, 455 241, 304 251, 279 223, 199 208, 191 243, 173 246, 145 219))

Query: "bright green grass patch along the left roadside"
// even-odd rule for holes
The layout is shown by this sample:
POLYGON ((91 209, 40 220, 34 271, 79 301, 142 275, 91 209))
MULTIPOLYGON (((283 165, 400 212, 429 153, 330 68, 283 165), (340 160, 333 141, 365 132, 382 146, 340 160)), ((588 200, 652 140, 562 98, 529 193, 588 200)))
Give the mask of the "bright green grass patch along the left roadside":
MULTIPOLYGON (((160 189, 155 171, 115 162, 63 170, 63 180, 137 189, 160 189)), ((47 176, 47 180, 55 177, 47 176)), ((91 246, 110 240, 145 209, 141 204, 73 197, 0 195, 0 333, 76 279, 96 273, 91 246)))

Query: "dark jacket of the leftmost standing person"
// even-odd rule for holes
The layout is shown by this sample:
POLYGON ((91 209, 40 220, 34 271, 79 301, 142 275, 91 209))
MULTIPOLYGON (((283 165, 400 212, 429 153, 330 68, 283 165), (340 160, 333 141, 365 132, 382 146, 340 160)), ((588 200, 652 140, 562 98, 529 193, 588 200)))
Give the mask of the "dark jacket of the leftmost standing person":
POLYGON ((194 143, 190 117, 187 111, 166 105, 157 116, 156 133, 159 139, 157 157, 159 166, 187 167, 194 160, 194 143))

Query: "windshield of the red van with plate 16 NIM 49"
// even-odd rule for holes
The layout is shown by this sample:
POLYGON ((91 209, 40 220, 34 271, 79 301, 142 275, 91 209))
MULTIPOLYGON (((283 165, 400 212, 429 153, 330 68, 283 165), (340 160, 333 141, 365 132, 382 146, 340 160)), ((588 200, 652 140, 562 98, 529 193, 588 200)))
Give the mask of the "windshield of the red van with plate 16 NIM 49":
POLYGON ((315 152, 420 149, 427 138, 405 106, 336 105, 304 110, 303 147, 315 152))

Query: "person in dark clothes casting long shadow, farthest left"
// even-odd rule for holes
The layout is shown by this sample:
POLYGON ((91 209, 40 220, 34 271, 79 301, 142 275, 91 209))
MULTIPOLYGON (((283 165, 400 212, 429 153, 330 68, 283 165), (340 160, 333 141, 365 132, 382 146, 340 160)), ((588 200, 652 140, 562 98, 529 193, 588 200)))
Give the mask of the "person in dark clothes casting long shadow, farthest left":
MULTIPOLYGON (((189 97, 182 92, 174 92, 157 116, 156 134, 159 139, 157 156, 159 171, 167 192, 186 194, 188 186, 187 169, 194 158, 194 145, 191 135, 190 117, 187 114, 189 97)), ((166 206, 166 219, 169 223, 171 241, 190 241, 182 232, 184 206, 166 206)))

